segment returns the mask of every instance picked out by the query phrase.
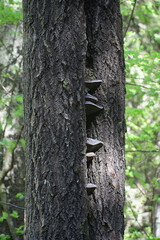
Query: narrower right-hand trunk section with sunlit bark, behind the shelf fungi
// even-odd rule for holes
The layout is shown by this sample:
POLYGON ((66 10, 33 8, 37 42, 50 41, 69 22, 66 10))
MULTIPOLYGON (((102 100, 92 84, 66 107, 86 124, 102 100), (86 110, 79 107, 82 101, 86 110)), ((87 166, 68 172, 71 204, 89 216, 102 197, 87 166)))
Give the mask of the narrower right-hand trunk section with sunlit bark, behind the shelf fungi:
POLYGON ((102 79, 96 96, 103 113, 88 119, 87 136, 104 142, 88 169, 97 190, 89 199, 90 239, 123 239, 125 181, 125 64, 118 1, 87 0, 87 67, 102 79))

